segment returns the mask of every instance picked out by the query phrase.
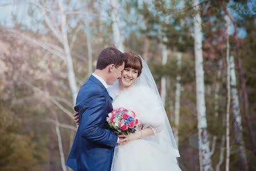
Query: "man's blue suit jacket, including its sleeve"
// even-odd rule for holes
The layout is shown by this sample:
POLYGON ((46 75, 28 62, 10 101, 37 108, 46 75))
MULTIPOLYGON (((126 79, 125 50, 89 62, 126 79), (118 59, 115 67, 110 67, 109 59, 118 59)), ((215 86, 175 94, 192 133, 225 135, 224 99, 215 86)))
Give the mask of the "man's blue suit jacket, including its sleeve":
POLYGON ((106 129, 106 118, 113 107, 106 88, 94 76, 80 88, 75 110, 79 127, 66 165, 73 170, 110 171, 117 135, 106 129))

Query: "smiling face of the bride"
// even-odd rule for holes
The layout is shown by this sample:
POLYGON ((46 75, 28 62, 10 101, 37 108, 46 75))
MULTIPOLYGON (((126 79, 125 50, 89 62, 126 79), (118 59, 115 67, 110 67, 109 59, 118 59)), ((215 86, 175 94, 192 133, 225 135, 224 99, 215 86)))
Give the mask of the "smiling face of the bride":
POLYGON ((122 71, 122 75, 119 78, 119 87, 121 89, 123 88, 129 88, 133 86, 133 83, 138 77, 138 70, 133 68, 125 68, 122 71))

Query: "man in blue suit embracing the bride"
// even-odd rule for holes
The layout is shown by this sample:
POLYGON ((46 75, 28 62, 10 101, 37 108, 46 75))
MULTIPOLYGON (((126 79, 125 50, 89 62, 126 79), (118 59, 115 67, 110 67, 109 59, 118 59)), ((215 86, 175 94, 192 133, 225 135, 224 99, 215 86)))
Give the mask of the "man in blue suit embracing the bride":
POLYGON ((113 100, 107 84, 113 85, 127 59, 117 48, 100 52, 96 70, 80 88, 75 111, 79 127, 66 165, 73 170, 110 171, 118 136, 106 129, 107 114, 113 111, 113 100))

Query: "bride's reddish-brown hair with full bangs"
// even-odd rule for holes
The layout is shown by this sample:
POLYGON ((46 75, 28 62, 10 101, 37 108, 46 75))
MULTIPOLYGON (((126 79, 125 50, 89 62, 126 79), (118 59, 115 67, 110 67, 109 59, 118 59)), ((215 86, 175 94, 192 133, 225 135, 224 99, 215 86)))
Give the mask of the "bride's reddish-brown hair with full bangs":
POLYGON ((125 64, 125 68, 136 69, 138 70, 138 76, 141 75, 141 71, 142 71, 141 57, 139 57, 136 53, 131 51, 125 52, 123 54, 127 58, 127 63, 125 64))

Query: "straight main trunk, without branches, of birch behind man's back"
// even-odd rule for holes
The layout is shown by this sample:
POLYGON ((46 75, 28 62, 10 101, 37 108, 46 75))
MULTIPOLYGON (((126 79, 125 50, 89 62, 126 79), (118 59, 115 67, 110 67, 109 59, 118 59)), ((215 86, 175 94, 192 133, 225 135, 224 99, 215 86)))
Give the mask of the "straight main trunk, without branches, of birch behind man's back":
POLYGON ((76 96, 77 96, 77 85, 76 85, 76 79, 75 79, 75 72, 73 71, 73 62, 71 57, 71 52, 68 44, 68 36, 67 36, 67 21, 66 16, 64 14, 64 8, 63 8, 63 1, 59 0, 59 7, 60 7, 60 13, 61 13, 61 36, 63 37, 63 46, 65 50, 65 56, 66 56, 66 62, 67 62, 67 69, 68 69, 68 81, 69 81, 69 87, 71 88, 72 92, 72 99, 73 99, 73 105, 76 104, 76 96))

